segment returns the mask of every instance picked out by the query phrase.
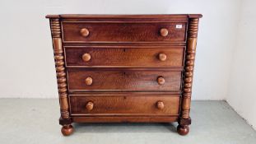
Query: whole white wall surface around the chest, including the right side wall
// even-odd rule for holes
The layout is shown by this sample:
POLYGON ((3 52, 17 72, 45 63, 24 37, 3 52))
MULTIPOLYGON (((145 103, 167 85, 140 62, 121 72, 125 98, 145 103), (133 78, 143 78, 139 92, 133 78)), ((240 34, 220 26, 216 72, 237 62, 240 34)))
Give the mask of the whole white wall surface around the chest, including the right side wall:
POLYGON ((58 98, 47 14, 202 13, 193 100, 227 100, 256 125, 254 0, 3 0, 1 98, 58 98))

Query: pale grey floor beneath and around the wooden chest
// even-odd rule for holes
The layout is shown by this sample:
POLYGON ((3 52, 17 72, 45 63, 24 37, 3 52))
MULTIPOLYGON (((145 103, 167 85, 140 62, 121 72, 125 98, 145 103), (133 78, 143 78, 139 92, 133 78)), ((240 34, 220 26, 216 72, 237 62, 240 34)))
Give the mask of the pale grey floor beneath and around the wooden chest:
POLYGON ((124 144, 124 143, 256 143, 256 132, 225 101, 193 101, 189 135, 177 123, 74 124, 63 137, 58 125, 58 100, 0 99, 0 144, 124 144))

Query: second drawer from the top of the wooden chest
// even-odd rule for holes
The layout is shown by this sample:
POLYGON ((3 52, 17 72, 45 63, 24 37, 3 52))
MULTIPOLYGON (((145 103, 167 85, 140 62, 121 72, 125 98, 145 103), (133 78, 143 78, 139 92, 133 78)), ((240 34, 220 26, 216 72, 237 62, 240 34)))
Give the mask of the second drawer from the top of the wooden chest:
POLYGON ((182 67, 184 47, 65 47, 66 64, 83 67, 182 67))

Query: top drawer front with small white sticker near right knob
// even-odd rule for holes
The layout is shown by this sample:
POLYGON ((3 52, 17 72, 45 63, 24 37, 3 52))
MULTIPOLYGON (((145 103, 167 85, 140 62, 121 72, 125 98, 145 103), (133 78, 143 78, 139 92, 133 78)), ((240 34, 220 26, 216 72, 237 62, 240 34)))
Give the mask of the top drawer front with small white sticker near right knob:
POLYGON ((63 22, 63 42, 184 42, 185 31, 184 22, 63 22))

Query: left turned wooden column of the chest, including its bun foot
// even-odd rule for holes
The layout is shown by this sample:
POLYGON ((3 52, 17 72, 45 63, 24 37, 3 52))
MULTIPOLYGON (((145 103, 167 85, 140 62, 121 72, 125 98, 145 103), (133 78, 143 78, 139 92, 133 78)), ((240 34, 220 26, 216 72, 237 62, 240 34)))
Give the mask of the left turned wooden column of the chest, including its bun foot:
POLYGON ((60 105, 59 123, 63 125, 62 132, 64 136, 70 135, 73 131, 72 120, 68 111, 68 97, 67 97, 67 77, 65 70, 65 61, 63 56, 63 43, 61 38, 61 24, 58 16, 50 18, 51 33, 54 47, 54 60, 56 68, 56 76, 58 81, 58 98, 60 105))

